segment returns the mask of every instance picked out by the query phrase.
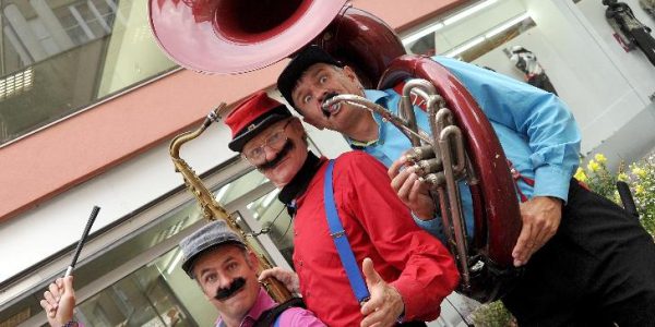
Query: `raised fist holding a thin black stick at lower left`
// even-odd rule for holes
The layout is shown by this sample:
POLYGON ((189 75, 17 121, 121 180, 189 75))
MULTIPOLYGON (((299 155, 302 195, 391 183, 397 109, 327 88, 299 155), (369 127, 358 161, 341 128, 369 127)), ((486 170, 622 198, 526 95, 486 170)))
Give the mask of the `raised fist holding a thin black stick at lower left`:
POLYGON ((40 305, 48 316, 48 323, 52 327, 60 327, 73 319, 75 307, 75 290, 73 289, 73 277, 57 278, 44 293, 40 305))

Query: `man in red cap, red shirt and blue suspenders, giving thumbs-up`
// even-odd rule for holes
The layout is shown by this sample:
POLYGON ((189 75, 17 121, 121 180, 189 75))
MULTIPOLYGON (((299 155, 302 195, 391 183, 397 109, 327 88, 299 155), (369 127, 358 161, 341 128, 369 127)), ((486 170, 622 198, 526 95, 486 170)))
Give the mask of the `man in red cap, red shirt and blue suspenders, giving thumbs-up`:
POLYGON ((439 316, 457 270, 443 245, 416 227, 384 166, 359 152, 317 157, 300 120, 263 92, 225 122, 229 148, 281 189, 278 198, 295 211, 299 290, 322 322, 421 326, 412 322, 439 316))

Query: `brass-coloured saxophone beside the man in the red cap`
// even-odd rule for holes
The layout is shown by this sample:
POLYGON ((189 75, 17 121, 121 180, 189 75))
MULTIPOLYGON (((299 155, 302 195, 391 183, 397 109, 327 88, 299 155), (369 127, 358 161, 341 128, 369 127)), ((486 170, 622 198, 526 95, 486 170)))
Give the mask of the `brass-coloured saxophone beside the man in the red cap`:
MULTIPOLYGON (((212 122, 221 120, 219 112, 223 111, 225 108, 225 102, 222 102, 221 105, 218 105, 218 107, 216 107, 207 114, 207 117, 205 118, 205 120, 199 129, 196 129, 195 131, 188 131, 175 136, 170 142, 170 146, 168 147, 168 149, 170 153, 172 164, 175 165, 175 170, 182 174, 184 179, 184 184, 187 184, 187 187, 189 187, 191 193, 193 193, 195 198, 198 198, 198 203, 200 204, 200 208, 202 210, 203 216, 207 220, 225 220, 227 225, 241 237, 248 250, 257 254, 260 267, 259 272, 261 272, 264 269, 271 268, 271 263, 269 263, 269 261, 264 256, 254 251, 254 247, 249 242, 249 239, 246 237, 246 233, 237 225, 237 220, 216 202, 216 199, 214 198, 214 194, 212 194, 212 192, 210 192, 210 190, 207 190, 207 187, 202 183, 198 174, 195 174, 195 171, 193 171, 193 169, 187 164, 187 161, 180 158, 180 147, 184 143, 200 136, 212 124, 212 122)), ((262 282, 262 284, 264 286, 271 298, 273 298, 273 300, 275 300, 277 303, 284 303, 293 298, 291 293, 286 289, 286 287, 284 287, 284 284, 275 278, 266 278, 262 282)))

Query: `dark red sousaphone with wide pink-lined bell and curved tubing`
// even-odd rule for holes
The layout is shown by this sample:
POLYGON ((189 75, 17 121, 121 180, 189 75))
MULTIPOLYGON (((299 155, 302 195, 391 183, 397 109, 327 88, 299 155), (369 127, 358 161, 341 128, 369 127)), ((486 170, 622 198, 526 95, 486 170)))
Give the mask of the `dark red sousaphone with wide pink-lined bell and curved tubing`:
MULTIPOLYGON (((448 70, 428 58, 406 55, 384 22, 344 0, 150 0, 148 7, 160 47, 193 71, 246 73, 315 44, 353 66, 367 86, 388 88, 410 77, 427 80, 440 106, 452 112, 448 120, 462 134, 460 158, 466 162, 455 164, 466 164, 466 170, 451 174, 466 179, 473 194, 472 242, 455 237, 452 228, 464 225, 462 215, 444 221, 449 249, 463 276, 458 291, 488 302, 507 290, 516 274, 512 249, 521 230, 515 185, 491 124, 448 70)), ((442 155, 450 156, 451 150, 442 155)), ((441 207, 449 214, 452 205, 441 207)))

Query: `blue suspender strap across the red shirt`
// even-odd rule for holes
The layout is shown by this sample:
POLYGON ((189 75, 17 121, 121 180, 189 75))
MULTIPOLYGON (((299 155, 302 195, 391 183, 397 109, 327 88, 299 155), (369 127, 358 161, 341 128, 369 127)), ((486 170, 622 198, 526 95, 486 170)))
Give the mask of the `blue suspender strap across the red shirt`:
POLYGON ((338 213, 336 211, 336 205, 334 203, 334 190, 332 187, 333 169, 334 160, 330 160, 330 162, 327 162, 325 179, 323 181, 323 202, 325 203, 325 216, 327 217, 330 235, 334 241, 334 245, 338 252, 338 257, 341 258, 342 265, 344 266, 346 275, 348 276, 350 288, 353 289, 357 301, 362 304, 369 300, 370 294, 368 292, 368 288, 366 287, 366 282, 364 282, 364 277, 359 271, 359 266, 357 265, 357 261, 353 254, 350 242, 348 242, 344 227, 338 218, 338 213))

